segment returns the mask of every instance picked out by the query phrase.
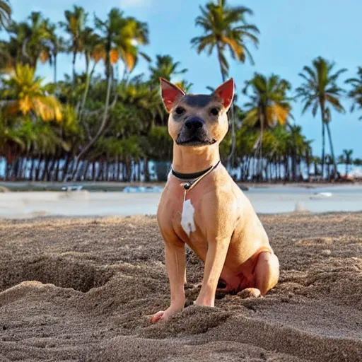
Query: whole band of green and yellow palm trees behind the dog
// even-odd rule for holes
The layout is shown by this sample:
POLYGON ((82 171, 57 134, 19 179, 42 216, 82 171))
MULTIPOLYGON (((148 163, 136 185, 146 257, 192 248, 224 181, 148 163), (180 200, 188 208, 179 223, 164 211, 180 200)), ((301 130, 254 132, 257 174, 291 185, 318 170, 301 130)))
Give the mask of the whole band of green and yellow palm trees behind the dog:
MULTIPOLYGON (((216 54, 221 78, 229 74, 230 59, 253 62, 249 45, 258 45, 259 30, 247 17, 252 11, 228 6, 226 0, 200 7, 196 25, 203 34, 191 40, 200 54, 216 54)), ((185 91, 192 88, 182 67, 169 54, 150 59, 142 52, 149 42, 148 25, 112 8, 105 19, 91 17, 74 6, 64 21, 54 24, 33 12, 19 23, 11 21, 8 1, 0 0, 0 157, 6 160, 6 180, 146 180, 150 165, 158 179, 165 177, 173 143, 159 95, 159 77, 185 91), (59 54, 71 57, 71 74, 57 76, 59 54), (77 59, 84 59, 78 71, 77 59), (149 76, 133 76, 137 64, 148 62, 149 76), (52 83, 37 77, 37 69, 49 63, 52 83), (103 74, 96 67, 102 64, 103 74), (124 69, 119 74, 119 66, 124 69), (153 161, 153 163, 151 163, 153 161)), ((299 181, 309 176, 337 177, 337 161, 361 165, 351 150, 336 160, 331 136, 331 110, 344 112, 339 86, 344 69, 318 57, 305 66, 303 83, 293 97, 291 83, 276 74, 255 74, 245 80, 237 95, 248 98, 235 105, 230 133, 221 144, 221 157, 239 180, 299 181), (322 155, 313 155, 312 140, 293 121, 296 100, 303 112, 320 112, 322 155), (330 155, 325 151, 325 132, 330 155)), ((362 68, 346 81, 352 110, 362 110, 362 68)), ((294 117, 297 115, 294 114, 294 117)), ((362 117, 361 117, 362 118, 362 117)))

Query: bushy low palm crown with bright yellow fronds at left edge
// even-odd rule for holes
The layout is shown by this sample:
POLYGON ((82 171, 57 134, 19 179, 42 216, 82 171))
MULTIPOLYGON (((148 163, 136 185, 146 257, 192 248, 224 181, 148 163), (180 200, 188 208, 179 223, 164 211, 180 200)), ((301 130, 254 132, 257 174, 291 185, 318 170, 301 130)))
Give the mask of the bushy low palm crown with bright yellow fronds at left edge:
POLYGON ((6 86, 2 94, 6 99, 5 115, 35 115, 44 121, 62 119, 58 100, 43 91, 42 79, 35 77, 35 69, 28 64, 17 64, 15 74, 8 80, 4 79, 3 83, 6 86))

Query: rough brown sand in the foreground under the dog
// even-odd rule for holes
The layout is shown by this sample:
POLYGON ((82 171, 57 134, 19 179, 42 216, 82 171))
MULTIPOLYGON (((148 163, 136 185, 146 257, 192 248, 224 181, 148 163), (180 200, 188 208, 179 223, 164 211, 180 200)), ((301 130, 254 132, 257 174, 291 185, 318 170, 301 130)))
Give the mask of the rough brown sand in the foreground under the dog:
POLYGON ((264 215, 281 262, 265 298, 187 305, 167 322, 154 216, 0 222, 0 361, 362 361, 362 213, 264 215))

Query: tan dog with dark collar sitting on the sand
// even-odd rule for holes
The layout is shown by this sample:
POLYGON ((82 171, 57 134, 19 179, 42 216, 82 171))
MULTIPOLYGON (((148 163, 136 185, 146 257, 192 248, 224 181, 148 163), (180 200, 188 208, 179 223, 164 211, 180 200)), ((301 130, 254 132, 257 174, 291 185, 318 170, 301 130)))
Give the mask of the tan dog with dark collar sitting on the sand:
POLYGON ((185 305, 185 243, 202 259, 204 278, 197 305, 214 306, 216 289, 264 296, 279 279, 279 261, 252 205, 219 163, 228 132, 233 79, 211 95, 185 94, 160 79, 173 173, 162 192, 157 220, 165 240, 171 303, 153 316, 166 320, 185 305))

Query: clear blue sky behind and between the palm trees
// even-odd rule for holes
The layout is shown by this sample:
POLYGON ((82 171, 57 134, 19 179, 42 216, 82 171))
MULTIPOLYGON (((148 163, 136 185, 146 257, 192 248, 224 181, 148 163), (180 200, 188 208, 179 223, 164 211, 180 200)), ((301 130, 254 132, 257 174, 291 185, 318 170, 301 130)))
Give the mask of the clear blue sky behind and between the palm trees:
MULTIPOLYGON (((202 35, 200 28, 195 28, 194 19, 199 15, 199 6, 206 1, 197 0, 11 0, 13 18, 23 21, 30 11, 41 11, 54 23, 64 19, 64 11, 73 5, 83 6, 89 13, 89 24, 93 23, 94 14, 105 18, 112 7, 119 7, 126 16, 134 16, 148 23, 150 45, 143 47, 151 58, 156 54, 170 54, 181 63, 181 68, 189 71, 185 75, 194 84, 192 93, 209 93, 206 86, 216 87, 221 81, 221 74, 215 54, 208 57, 198 55, 190 46, 192 37, 202 35)), ((336 63, 335 69, 346 68, 339 85, 343 86, 346 78, 356 75, 357 67, 362 66, 361 0, 228 0, 230 5, 243 5, 252 9, 249 17, 260 30, 259 48, 250 45, 255 65, 230 61, 230 76, 233 76, 238 89, 238 103, 243 105, 246 98, 241 95, 244 82, 252 78, 255 72, 265 75, 278 74, 291 82, 295 89, 302 81, 298 74, 303 66, 310 65, 315 57, 322 56, 336 63), (338 4, 338 5, 337 5, 338 4)), ((59 57, 58 78, 71 74, 71 61, 68 55, 59 57)), ((76 64, 83 70, 83 59, 76 64)), ((101 68, 98 69, 102 71, 101 68)), ((122 68, 120 69, 122 71, 122 68)), ((148 64, 141 61, 134 74, 146 73, 148 64)), ((37 73, 52 80, 52 69, 38 66, 37 73)), ((354 157, 362 158, 362 121, 358 117, 362 112, 350 113, 351 102, 342 100, 346 114, 332 113, 332 139, 334 152, 340 155, 344 148, 353 148, 354 157)), ((311 112, 301 115, 300 103, 293 103, 292 114, 295 124, 303 129, 308 139, 313 139, 313 152, 321 153, 320 115, 315 118, 311 112)), ((327 148, 329 153, 329 148, 327 148)))

